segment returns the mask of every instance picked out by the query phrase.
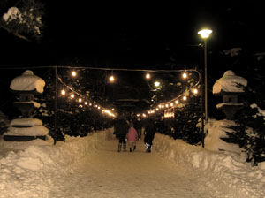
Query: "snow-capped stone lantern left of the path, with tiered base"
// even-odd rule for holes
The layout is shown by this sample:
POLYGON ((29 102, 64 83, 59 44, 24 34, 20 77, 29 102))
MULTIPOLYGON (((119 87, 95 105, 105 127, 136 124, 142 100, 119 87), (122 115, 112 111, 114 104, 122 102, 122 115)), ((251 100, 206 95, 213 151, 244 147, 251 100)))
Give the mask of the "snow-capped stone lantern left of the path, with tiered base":
POLYGON ((45 81, 29 70, 11 81, 11 91, 19 95, 19 102, 14 102, 14 105, 21 111, 22 118, 11 120, 8 132, 4 133, 4 141, 47 139, 48 128, 42 126, 42 120, 32 118, 34 108, 41 106, 40 103, 34 102, 34 95, 41 95, 44 86, 45 81))

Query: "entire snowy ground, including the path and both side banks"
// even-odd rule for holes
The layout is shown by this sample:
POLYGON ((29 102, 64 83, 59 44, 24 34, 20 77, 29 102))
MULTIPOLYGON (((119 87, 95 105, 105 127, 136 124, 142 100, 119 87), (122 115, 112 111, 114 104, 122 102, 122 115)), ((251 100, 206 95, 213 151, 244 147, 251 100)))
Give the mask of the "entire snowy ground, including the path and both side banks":
POLYGON ((56 146, 0 142, 0 197, 264 197, 265 171, 155 134, 117 153, 111 130, 67 138, 56 146), (20 147, 21 148, 21 147, 20 147))

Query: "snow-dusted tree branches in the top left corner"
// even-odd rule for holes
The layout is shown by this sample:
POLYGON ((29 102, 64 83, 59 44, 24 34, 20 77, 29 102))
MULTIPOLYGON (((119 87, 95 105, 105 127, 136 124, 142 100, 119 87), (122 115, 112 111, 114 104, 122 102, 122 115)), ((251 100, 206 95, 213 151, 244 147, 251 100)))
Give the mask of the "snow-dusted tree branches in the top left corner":
POLYGON ((0 4, 3 11, 0 28, 20 39, 30 41, 42 37, 43 4, 37 0, 5 0, 0 4), (5 3, 5 4, 4 4, 5 3))

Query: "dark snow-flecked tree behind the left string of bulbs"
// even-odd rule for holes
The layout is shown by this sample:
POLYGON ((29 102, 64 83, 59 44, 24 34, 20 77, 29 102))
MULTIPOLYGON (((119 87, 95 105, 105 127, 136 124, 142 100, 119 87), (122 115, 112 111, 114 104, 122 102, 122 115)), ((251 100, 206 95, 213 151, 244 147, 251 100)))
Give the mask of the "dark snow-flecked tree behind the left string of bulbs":
MULTIPOLYGON (((102 86, 101 82, 96 82, 96 80, 98 80, 98 78, 96 78, 97 75, 92 73, 89 74, 88 70, 79 70, 79 76, 73 79, 69 70, 59 70, 58 77, 62 81, 57 80, 57 108, 55 108, 54 71, 50 70, 47 73, 48 74, 45 75, 44 78, 46 81, 45 92, 40 98, 43 105, 39 113, 42 115, 43 123, 49 128, 49 134, 56 141, 63 141, 64 134, 86 136, 87 133, 110 127, 112 118, 102 114, 101 110, 90 107, 88 103, 85 105, 78 101, 79 96, 82 95, 87 98, 89 103, 101 101, 102 104, 106 104, 106 101, 101 100, 102 86), (72 92, 69 88, 72 88, 72 90, 75 90, 80 95, 76 95, 76 93, 72 92), (67 92, 66 95, 60 95, 62 89, 65 89, 67 92), (72 93, 75 94, 75 98, 70 97, 72 93), (57 110, 56 119, 55 110, 57 110), (57 125, 57 129, 55 129, 55 124, 57 125)), ((84 97, 81 97, 83 100, 82 102, 84 102, 84 97)))

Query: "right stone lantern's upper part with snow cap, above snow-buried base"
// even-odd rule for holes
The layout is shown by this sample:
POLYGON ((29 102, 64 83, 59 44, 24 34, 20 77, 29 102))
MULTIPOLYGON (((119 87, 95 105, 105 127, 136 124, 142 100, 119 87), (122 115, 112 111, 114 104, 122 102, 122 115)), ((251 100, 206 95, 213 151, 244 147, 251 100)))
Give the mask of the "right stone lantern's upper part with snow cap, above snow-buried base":
POLYGON ((232 120, 237 110, 242 108, 243 103, 239 103, 238 96, 244 94, 242 86, 246 85, 247 80, 231 70, 224 72, 223 77, 214 84, 213 94, 223 96, 223 103, 217 104, 216 107, 223 110, 226 119, 232 120))

